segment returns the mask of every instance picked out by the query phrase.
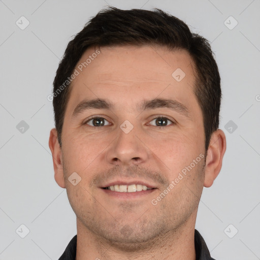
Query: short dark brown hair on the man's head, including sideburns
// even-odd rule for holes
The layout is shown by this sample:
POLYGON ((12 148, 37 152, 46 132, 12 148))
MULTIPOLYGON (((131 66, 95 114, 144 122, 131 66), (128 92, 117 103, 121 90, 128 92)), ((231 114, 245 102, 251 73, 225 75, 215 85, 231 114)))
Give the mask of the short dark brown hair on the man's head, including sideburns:
POLYGON ((180 19, 159 9, 120 10, 115 7, 101 10, 86 23, 69 42, 59 63, 53 82, 53 108, 60 146, 64 114, 71 89, 68 78, 83 53, 93 46, 151 44, 166 46, 169 50, 186 50, 194 61, 194 94, 202 109, 205 149, 208 150, 211 134, 219 125, 221 101, 220 76, 209 42, 200 35, 191 33, 180 19), (64 82, 67 82, 65 87, 64 82))

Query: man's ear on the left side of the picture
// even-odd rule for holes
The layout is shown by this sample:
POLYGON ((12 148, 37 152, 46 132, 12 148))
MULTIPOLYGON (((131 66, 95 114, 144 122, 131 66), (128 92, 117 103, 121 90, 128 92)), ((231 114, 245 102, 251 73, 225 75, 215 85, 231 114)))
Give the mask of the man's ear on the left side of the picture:
POLYGON ((58 143, 56 128, 51 129, 49 147, 52 153, 54 178, 61 188, 65 188, 61 148, 58 143))

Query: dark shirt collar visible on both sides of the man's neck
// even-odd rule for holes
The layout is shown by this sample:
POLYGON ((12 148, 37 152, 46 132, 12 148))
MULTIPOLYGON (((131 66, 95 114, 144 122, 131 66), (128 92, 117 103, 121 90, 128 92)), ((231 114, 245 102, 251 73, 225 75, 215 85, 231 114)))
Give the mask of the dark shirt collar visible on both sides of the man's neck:
MULTIPOLYGON (((209 249, 199 233, 195 230, 195 250, 196 260, 214 260, 209 253, 209 249)), ((76 259, 76 248, 77 248, 77 235, 71 240, 64 253, 59 257, 59 260, 75 260, 76 259)))

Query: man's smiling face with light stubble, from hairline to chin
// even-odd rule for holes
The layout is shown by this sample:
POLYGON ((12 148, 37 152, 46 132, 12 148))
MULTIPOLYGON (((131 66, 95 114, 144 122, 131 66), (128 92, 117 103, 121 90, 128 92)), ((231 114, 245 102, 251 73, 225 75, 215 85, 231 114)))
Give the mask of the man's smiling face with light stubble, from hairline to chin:
POLYGON ((193 63, 163 47, 100 51, 76 66, 56 180, 81 229, 113 243, 149 241, 196 218, 205 136, 193 63))

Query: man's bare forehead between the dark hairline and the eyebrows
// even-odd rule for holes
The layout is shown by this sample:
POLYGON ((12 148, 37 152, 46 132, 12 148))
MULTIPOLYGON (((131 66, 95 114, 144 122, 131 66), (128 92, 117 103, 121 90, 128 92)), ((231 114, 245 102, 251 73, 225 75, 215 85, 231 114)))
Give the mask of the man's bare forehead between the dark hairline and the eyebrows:
POLYGON ((174 94, 184 103, 190 95, 194 99, 193 62, 185 50, 154 46, 89 48, 75 69, 79 74, 72 82, 69 100, 73 107, 90 95, 122 105, 159 95, 166 98, 174 94))

